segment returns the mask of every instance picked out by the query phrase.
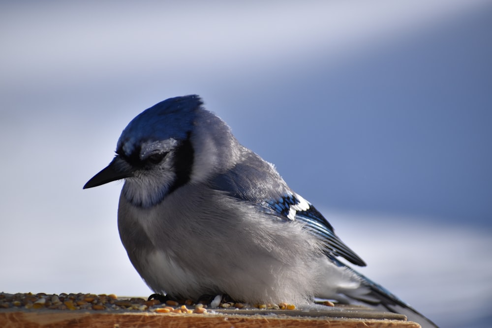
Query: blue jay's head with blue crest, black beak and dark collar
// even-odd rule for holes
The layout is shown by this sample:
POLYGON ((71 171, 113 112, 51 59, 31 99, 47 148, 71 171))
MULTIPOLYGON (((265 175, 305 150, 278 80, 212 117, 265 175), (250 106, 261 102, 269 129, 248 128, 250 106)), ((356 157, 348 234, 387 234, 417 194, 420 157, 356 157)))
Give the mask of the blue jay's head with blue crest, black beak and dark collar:
POLYGON ((226 156, 217 150, 227 147, 217 144, 235 139, 202 104, 197 95, 175 97, 140 113, 123 130, 113 161, 84 189, 125 179, 126 200, 148 208, 186 183, 204 179, 218 157, 226 156))

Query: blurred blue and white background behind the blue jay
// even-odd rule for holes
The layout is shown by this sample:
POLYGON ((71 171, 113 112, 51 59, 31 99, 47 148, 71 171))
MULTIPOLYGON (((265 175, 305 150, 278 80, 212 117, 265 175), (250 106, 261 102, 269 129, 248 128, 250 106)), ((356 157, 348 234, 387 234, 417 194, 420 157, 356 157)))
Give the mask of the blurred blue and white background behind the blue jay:
POLYGON ((148 295, 82 190, 125 125, 200 94, 443 327, 492 301, 492 1, 2 1, 0 290, 148 295))

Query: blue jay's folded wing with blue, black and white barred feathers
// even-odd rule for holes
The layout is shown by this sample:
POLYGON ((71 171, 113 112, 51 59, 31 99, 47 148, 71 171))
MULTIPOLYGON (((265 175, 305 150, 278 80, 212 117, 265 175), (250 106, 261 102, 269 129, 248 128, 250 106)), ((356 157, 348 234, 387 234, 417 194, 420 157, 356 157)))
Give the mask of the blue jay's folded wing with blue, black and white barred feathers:
POLYGON ((273 166, 258 155, 250 153, 246 160, 233 169, 215 177, 212 187, 260 206, 285 221, 297 220, 305 223, 305 229, 321 240, 328 257, 341 256, 355 265, 366 266, 338 238, 328 220, 304 198, 290 190, 273 166))

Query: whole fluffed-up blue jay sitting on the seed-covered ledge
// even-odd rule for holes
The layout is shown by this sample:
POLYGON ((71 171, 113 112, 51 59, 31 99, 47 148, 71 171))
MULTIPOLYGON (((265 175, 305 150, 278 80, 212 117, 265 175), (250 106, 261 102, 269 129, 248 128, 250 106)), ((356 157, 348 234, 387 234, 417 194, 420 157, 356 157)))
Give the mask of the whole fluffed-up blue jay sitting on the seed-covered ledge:
POLYGON ((135 117, 113 161, 84 189, 119 179, 120 237, 156 293, 195 300, 227 294, 251 304, 363 302, 436 327, 340 262, 366 265, 197 95, 135 117))

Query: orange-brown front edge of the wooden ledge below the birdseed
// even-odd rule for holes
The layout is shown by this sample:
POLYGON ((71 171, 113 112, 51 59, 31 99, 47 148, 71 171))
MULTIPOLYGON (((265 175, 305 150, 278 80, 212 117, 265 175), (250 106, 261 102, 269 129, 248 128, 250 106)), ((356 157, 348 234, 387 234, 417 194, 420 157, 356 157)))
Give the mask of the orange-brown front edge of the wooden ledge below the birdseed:
POLYGON ((290 316, 224 314, 91 313, 75 311, 0 312, 4 328, 420 328, 400 320, 327 319, 290 316))

